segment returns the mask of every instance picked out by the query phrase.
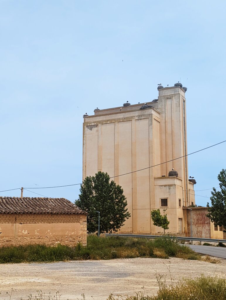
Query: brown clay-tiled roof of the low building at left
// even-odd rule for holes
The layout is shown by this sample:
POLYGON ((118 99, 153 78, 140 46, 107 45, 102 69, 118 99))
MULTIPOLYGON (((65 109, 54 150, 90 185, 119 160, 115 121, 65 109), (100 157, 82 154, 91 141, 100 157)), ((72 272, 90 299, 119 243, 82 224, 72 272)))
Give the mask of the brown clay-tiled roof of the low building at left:
POLYGON ((87 214, 86 211, 65 198, 4 196, 0 196, 0 213, 87 214))

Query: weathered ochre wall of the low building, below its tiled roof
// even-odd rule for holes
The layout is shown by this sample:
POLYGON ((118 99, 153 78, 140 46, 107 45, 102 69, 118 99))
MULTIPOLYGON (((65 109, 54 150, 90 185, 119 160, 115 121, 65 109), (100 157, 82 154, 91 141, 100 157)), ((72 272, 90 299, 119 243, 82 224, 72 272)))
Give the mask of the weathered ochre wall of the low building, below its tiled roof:
POLYGON ((86 245, 84 214, 0 214, 0 245, 86 245))

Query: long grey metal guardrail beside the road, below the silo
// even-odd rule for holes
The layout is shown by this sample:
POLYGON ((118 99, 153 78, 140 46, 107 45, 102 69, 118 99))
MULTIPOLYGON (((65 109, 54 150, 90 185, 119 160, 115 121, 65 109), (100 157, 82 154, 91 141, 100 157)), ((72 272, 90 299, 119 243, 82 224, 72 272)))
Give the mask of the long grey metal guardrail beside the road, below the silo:
MULTIPOLYGON (((164 235, 140 235, 140 234, 117 234, 117 233, 106 233, 106 236, 122 236, 129 238, 162 238, 164 235)), ((214 243, 226 243, 226 240, 220 240, 217 238, 193 238, 193 237, 185 237, 185 236, 170 236, 166 235, 166 237, 171 239, 177 239, 179 241, 203 241, 203 242, 214 242, 214 243)))

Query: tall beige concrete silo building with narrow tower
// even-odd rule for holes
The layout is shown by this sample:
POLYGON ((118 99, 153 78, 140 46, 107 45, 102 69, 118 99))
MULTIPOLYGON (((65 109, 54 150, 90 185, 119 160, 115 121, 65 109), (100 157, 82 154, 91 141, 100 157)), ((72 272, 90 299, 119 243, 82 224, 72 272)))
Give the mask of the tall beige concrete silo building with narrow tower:
POLYGON ((182 157, 187 154, 185 92, 180 87, 158 92, 158 100, 147 103, 151 108, 140 109, 141 103, 84 118, 83 179, 101 170, 122 186, 131 217, 120 233, 163 232, 151 220, 157 208, 167 208, 168 232, 187 233, 182 207, 195 204, 187 158, 182 157), (172 168, 178 177, 168 176, 172 168), (167 199, 166 206, 161 199, 167 199))

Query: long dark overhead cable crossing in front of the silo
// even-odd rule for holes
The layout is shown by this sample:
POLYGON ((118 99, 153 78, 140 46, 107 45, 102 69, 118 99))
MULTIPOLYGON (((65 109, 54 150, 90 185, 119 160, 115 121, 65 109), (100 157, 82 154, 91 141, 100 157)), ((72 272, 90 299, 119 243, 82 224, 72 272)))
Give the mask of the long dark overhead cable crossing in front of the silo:
MULTIPOLYGON (((195 153, 197 153, 197 152, 200 152, 200 151, 209 149, 209 148, 211 148, 211 147, 217 146, 217 145, 222 144, 222 143, 225 143, 225 142, 226 142, 226 140, 224 140, 224 141, 222 141, 222 142, 220 142, 220 143, 211 145, 211 146, 209 146, 209 147, 206 147, 206 148, 203 148, 203 149, 200 149, 200 150, 191 152, 191 153, 189 153, 189 154, 180 156, 180 157, 178 157, 178 158, 174 158, 174 159, 171 159, 171 160, 169 160, 169 161, 165 161, 164 163, 160 163, 160 164, 157 164, 157 165, 154 165, 154 166, 149 166, 149 167, 146 167, 146 168, 143 168, 143 169, 140 169, 140 170, 136 170, 136 171, 132 171, 132 172, 128 172, 128 173, 124 173, 124 174, 112 176, 112 177, 110 177, 110 178, 116 178, 116 177, 119 177, 119 176, 128 175, 128 174, 132 174, 132 173, 135 173, 135 172, 147 170, 147 169, 150 169, 150 168, 153 168, 153 167, 157 167, 157 166, 160 166, 160 165, 162 165, 162 164, 166 164, 166 163, 169 163, 169 162, 171 162, 171 161, 176 161, 177 159, 184 158, 184 157, 186 157, 186 156, 188 156, 188 155, 195 154, 195 153)), ((54 187, 25 187, 24 189, 40 189, 40 188, 69 187, 69 186, 73 186, 73 185, 81 185, 81 184, 82 184, 82 183, 76 183, 76 184, 59 185, 59 186, 54 186, 54 187)), ((20 189, 20 188, 11 189, 11 190, 18 190, 18 189, 20 189)), ((210 188, 210 189, 207 189, 207 190, 211 190, 211 188, 210 188)), ((6 191, 8 191, 8 190, 4 190, 4 191, 2 191, 2 192, 6 192, 6 191)), ((200 190, 200 191, 201 191, 201 190, 200 190)), ((0 191, 0 192, 1 192, 1 191, 0 191)), ((204 196, 203 196, 203 197, 204 197, 204 196)), ((208 198, 208 197, 207 197, 207 198, 208 198)))

